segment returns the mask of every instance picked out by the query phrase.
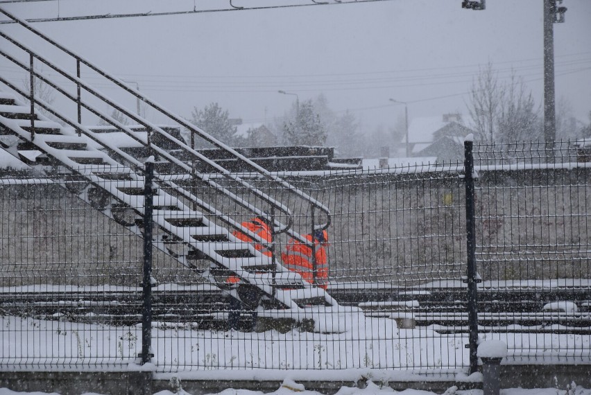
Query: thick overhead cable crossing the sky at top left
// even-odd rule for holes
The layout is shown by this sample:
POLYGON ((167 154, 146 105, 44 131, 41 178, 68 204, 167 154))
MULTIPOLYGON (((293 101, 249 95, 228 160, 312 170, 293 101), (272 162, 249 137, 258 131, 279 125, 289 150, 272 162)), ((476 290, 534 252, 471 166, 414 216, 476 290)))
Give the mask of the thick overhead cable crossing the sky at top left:
MULTIPOLYGON (((22 0, 21 0, 22 1, 22 0)), ((49 1, 49 0, 30 0, 30 1, 49 1)), ((80 15, 78 17, 55 17, 55 18, 31 18, 26 19, 28 22, 63 22, 63 21, 80 21, 90 19, 115 19, 115 18, 137 18, 137 17, 162 17, 166 15, 190 15, 190 14, 204 14, 209 12, 229 12, 229 11, 252 11, 252 10, 275 10, 279 8, 300 8, 309 6, 337 6, 345 4, 359 4, 359 3, 378 3, 393 0, 351 0, 351 1, 336 1, 334 2, 314 2, 299 3, 299 4, 285 4, 281 6, 259 6, 259 7, 235 7, 230 8, 212 8, 209 10, 185 10, 185 11, 166 11, 166 12, 135 12, 126 14, 100 14, 100 15, 80 15)), ((19 0, 3 0, 1 3, 19 2, 19 0)), ((13 24, 14 21, 0 21, 0 24, 13 24)))

